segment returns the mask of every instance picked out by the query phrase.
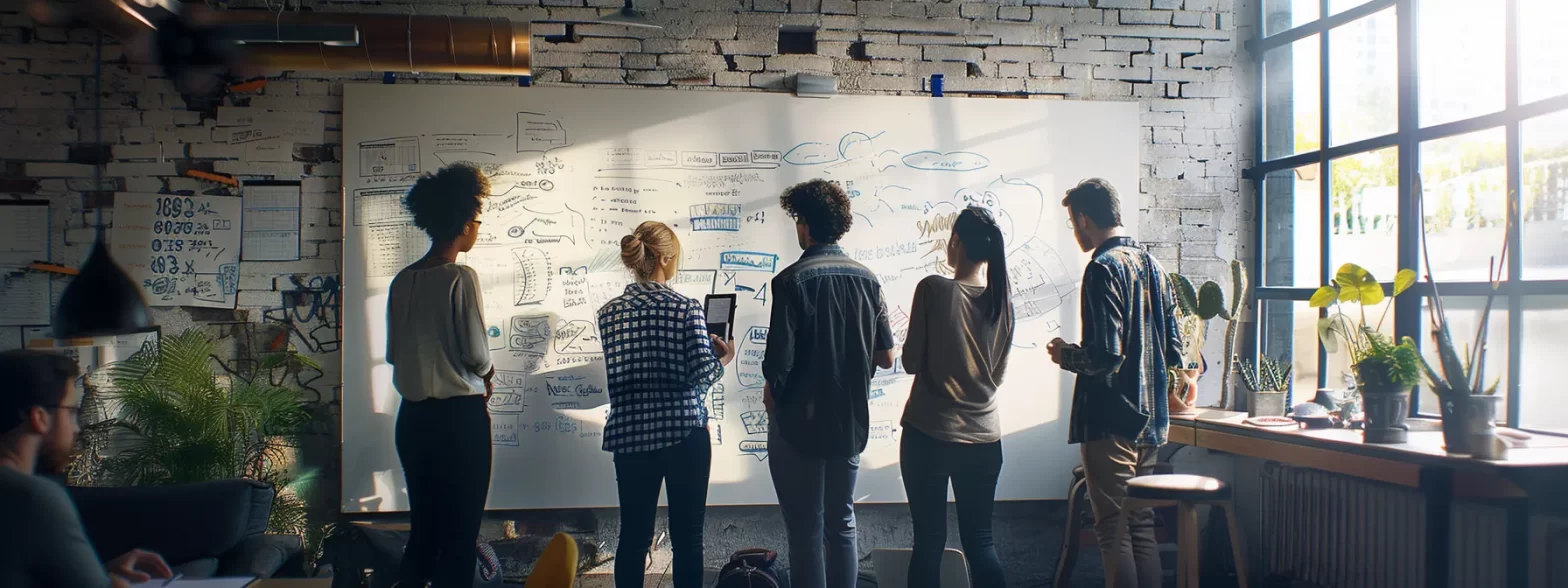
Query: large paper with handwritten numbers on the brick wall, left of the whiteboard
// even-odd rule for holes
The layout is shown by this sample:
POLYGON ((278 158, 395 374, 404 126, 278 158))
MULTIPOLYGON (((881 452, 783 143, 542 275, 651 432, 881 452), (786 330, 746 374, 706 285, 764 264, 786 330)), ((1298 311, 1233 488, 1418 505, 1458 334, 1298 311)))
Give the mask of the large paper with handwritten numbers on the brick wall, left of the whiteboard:
POLYGON ((240 198, 121 193, 110 251, 149 306, 232 309, 240 284, 240 198))

